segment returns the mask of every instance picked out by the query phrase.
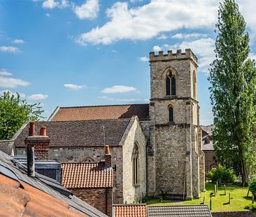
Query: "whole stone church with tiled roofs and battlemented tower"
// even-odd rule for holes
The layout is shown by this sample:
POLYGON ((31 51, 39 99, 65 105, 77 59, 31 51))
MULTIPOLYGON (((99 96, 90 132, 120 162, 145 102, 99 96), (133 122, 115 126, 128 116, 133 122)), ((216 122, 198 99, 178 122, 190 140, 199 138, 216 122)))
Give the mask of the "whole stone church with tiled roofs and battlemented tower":
MULTIPOLYGON (((48 159, 99 162, 108 144, 114 170, 113 203, 145 195, 176 199, 204 190, 204 153, 197 100, 197 57, 190 49, 150 52, 150 103, 57 107, 46 126, 48 159)), ((25 154, 28 124, 13 137, 25 154)))

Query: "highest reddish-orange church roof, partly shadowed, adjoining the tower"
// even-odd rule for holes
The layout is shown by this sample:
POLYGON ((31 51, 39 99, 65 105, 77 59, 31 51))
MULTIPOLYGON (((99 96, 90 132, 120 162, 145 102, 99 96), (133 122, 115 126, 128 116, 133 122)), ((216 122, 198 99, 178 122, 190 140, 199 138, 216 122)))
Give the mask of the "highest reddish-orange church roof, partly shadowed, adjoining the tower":
POLYGON ((149 104, 95 105, 81 107, 59 107, 52 113, 50 121, 82 121, 99 119, 149 118, 149 104))

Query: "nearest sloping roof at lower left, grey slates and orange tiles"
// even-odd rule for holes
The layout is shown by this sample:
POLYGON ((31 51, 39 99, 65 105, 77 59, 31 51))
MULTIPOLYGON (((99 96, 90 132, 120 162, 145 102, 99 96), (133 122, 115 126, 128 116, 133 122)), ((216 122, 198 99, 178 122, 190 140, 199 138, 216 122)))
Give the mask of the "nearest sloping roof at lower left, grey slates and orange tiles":
POLYGON ((0 151, 1 216, 106 216, 57 181, 36 173, 0 151))

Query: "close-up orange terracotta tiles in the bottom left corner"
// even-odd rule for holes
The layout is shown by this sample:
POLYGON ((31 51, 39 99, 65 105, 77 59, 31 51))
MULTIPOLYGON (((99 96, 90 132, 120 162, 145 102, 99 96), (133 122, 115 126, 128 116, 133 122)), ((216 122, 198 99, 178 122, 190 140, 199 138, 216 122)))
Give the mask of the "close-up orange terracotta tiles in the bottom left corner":
POLYGON ((0 174, 1 216, 85 216, 23 181, 0 174))

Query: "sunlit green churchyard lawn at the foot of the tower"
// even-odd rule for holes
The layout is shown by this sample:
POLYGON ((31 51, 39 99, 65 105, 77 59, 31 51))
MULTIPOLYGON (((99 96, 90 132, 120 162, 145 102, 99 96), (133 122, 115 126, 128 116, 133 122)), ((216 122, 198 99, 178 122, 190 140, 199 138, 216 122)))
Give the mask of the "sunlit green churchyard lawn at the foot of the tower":
MULTIPOLYGON (((202 204, 205 199, 205 204, 210 207, 210 193, 214 190, 214 185, 212 183, 206 182, 206 192, 201 192, 201 197, 194 200, 186 200, 183 202, 173 202, 170 200, 163 200, 162 202, 159 199, 152 199, 147 202, 148 206, 150 205, 195 205, 202 204)), ((249 197, 247 196, 248 188, 243 188, 241 186, 227 185, 227 195, 224 195, 224 186, 218 187, 218 193, 212 197, 212 211, 246 211, 244 207, 248 204, 252 204, 251 193, 249 197), (229 192, 231 193, 231 202, 229 202, 229 192)))

